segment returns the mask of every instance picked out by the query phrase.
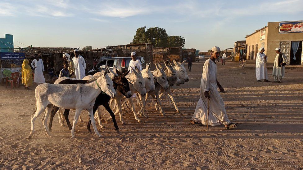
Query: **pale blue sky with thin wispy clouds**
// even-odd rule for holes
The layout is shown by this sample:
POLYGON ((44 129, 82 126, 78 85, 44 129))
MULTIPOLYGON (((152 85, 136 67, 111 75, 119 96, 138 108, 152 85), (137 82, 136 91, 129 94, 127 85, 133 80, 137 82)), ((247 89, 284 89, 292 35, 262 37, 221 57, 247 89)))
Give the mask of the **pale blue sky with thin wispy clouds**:
POLYGON ((0 38, 13 34, 15 47, 95 49, 129 44, 146 26, 207 51, 232 48, 268 22, 303 20, 302 7, 303 0, 0 0, 0 38))

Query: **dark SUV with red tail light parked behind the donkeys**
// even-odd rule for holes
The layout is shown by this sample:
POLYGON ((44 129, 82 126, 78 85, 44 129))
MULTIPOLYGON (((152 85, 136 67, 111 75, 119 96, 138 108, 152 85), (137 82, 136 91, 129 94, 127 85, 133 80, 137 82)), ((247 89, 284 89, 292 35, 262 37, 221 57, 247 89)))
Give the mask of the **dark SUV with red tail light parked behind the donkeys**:
MULTIPOLYGON (((142 69, 144 69, 145 68, 144 57, 138 56, 137 59, 141 61, 142 69)), ((101 61, 99 61, 99 63, 97 63, 97 65, 92 70, 88 71, 87 75, 93 75, 97 72, 100 72, 100 70, 102 68, 106 68, 106 66, 108 66, 109 68, 113 68, 115 66, 115 68, 119 72, 127 72, 130 60, 132 60, 131 57, 110 57, 110 58, 102 59, 101 61)))

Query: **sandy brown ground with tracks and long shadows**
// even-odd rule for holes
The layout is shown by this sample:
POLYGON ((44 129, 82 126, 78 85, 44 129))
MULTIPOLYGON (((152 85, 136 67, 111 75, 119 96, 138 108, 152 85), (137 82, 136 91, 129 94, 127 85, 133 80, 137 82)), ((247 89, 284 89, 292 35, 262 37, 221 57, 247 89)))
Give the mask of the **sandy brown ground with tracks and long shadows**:
MULTIPOLYGON (((59 126, 57 116, 52 137, 47 137, 40 115, 33 137, 27 139, 34 90, 0 86, 0 168, 302 169, 303 70, 287 69, 283 83, 258 83, 255 70, 237 68, 239 64, 218 64, 228 117, 241 123, 235 130, 223 126, 206 130, 206 126, 188 124, 199 98, 203 62, 193 64, 188 83, 172 90, 179 95, 175 99, 181 113, 168 108, 162 98, 165 117, 149 109, 149 118, 138 123, 128 111, 126 125, 118 121, 120 133, 112 122, 105 124, 106 129, 97 125, 103 138, 87 133, 86 124, 78 123, 76 138, 71 139, 68 128, 59 126)), ((268 72, 273 80, 272 70, 268 72)), ((71 111, 70 120, 74 113, 71 111)), ((106 111, 103 114, 109 116, 106 111)), ((83 118, 87 123, 84 111, 83 118)))

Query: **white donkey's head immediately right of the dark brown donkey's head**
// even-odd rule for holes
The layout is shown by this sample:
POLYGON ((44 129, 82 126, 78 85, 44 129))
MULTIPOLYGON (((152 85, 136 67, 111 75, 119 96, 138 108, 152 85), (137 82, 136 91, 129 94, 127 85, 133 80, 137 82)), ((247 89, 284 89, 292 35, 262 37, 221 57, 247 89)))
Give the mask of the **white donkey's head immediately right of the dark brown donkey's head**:
POLYGON ((135 68, 136 70, 134 70, 133 68, 131 69, 133 72, 132 75, 129 77, 129 83, 133 85, 137 92, 143 97, 146 95, 144 78, 142 77, 142 74, 137 67, 135 68))

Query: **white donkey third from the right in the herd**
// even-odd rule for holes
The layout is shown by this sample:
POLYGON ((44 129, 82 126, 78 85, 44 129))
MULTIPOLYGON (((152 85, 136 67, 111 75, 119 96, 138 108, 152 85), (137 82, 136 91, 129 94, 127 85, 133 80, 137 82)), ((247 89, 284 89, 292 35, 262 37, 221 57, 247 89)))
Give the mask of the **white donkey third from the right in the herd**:
MULTIPOLYGON (((159 99, 159 91, 161 90, 161 87, 163 87, 165 90, 169 88, 169 84, 167 81, 167 76, 164 72, 164 69, 160 64, 155 64, 156 65, 156 70, 153 71, 153 76, 154 76, 154 81, 155 81, 155 90, 149 91, 147 95, 145 96, 145 103, 148 99, 149 96, 152 96, 152 98, 159 104, 160 108, 160 113, 162 116, 165 114, 163 113, 162 107, 161 107, 161 102, 159 99)), ((156 108, 157 110, 157 108, 156 108)))

